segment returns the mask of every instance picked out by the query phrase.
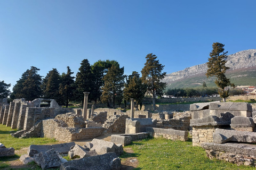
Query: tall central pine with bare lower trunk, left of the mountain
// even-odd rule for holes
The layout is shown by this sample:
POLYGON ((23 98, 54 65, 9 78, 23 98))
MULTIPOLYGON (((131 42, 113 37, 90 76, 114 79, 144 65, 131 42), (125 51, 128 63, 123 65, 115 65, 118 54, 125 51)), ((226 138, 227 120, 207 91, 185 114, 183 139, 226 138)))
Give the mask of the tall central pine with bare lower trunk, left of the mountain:
POLYGON ((160 64, 156 58, 156 55, 148 54, 145 66, 141 70, 142 82, 147 84, 147 91, 153 97, 154 110, 156 110, 156 96, 162 96, 166 87, 166 83, 161 82, 166 75, 166 72, 162 73, 164 65, 160 64))

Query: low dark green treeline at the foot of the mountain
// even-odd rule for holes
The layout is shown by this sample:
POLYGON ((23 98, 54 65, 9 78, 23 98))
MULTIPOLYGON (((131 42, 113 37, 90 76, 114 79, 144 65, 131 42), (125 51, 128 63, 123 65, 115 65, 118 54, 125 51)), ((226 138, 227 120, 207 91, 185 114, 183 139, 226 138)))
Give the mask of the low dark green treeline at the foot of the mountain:
MULTIPOLYGON (((234 95, 244 95, 245 91, 242 89, 229 89, 229 94, 234 95)), ((217 87, 205 87, 205 88, 175 88, 167 89, 165 95, 169 97, 205 97, 205 96, 216 96, 218 95, 217 87)))

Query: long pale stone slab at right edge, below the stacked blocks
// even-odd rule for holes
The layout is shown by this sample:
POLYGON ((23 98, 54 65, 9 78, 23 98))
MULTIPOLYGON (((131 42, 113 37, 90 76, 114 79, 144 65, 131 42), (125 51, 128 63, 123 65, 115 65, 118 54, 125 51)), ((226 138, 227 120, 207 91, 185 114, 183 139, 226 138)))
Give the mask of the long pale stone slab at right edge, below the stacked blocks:
POLYGON ((256 143, 256 133, 226 129, 215 129, 213 133, 214 143, 225 143, 228 141, 256 143))

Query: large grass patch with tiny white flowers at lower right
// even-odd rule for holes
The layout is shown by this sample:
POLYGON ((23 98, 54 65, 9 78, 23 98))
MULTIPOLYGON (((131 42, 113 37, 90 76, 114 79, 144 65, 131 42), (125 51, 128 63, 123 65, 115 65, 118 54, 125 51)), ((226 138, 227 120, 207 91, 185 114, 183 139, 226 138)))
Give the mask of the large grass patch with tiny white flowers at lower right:
MULTIPOLYGON (((221 160, 207 158, 205 150, 193 147, 191 141, 171 141, 166 139, 145 139, 134 141, 131 145, 139 166, 136 169, 255 169, 248 166, 237 166, 221 160)), ((121 159, 127 157, 127 153, 121 159)))

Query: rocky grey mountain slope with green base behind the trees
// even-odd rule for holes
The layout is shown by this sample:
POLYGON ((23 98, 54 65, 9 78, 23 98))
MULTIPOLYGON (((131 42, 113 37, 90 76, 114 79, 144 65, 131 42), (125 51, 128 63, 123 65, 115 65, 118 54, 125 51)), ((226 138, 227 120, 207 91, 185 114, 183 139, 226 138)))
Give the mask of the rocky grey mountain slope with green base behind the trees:
MULTIPOLYGON (((243 50, 229 55, 226 66, 230 67, 226 75, 236 86, 256 84, 256 49, 243 50)), ((167 83, 167 88, 202 87, 204 81, 207 87, 215 87, 215 78, 207 79, 206 71, 206 63, 199 64, 167 74, 163 81, 167 83)))

